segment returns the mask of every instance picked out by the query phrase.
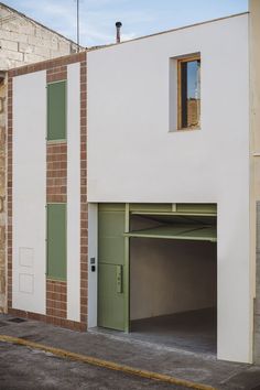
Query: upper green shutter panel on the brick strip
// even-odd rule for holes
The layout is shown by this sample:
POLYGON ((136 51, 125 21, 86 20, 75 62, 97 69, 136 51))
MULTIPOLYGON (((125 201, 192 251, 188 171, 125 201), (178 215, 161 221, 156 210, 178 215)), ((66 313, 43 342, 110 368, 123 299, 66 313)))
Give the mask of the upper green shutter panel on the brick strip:
POLYGON ((66 139, 66 80, 47 85, 47 140, 66 139))

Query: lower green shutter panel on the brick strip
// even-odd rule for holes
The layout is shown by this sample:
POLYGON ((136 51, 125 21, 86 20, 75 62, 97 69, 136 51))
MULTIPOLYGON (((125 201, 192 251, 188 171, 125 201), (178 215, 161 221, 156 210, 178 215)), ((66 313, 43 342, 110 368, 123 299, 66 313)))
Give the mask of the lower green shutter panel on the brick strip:
POLYGON ((47 205, 47 277, 66 280, 66 204, 47 205))

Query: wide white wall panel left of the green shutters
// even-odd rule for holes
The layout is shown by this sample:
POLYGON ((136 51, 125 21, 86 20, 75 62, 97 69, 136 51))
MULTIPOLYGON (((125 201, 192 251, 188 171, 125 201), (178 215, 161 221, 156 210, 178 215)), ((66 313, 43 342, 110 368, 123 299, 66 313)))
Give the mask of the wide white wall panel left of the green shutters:
POLYGON ((12 307, 45 314, 46 72, 13 78, 12 307))

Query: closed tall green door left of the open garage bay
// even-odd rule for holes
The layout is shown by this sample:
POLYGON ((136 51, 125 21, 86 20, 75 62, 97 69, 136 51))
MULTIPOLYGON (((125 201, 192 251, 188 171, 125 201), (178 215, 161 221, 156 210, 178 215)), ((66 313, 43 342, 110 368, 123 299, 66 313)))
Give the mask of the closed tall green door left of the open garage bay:
POLYGON ((98 326, 128 328, 128 266, 124 262, 124 205, 99 205, 98 326))

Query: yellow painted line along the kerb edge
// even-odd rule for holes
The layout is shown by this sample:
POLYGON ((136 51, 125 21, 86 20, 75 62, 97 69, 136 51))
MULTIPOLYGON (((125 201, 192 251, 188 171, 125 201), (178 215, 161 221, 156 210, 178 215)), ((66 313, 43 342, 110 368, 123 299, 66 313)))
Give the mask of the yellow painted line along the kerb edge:
POLYGON ((164 373, 158 373, 158 372, 153 372, 153 371, 142 370, 142 369, 133 368, 130 366, 123 366, 123 365, 119 365, 117 362, 112 362, 112 361, 108 361, 108 360, 104 360, 104 359, 98 359, 98 358, 87 356, 87 355, 75 354, 69 350, 50 347, 47 345, 26 340, 24 338, 0 335, 0 342, 22 345, 22 346, 30 347, 33 349, 41 349, 45 353, 51 353, 51 354, 62 357, 62 358, 68 358, 71 360, 86 362, 91 366, 98 366, 98 367, 107 368, 107 369, 115 370, 115 371, 130 373, 130 375, 133 375, 137 377, 142 377, 142 378, 147 378, 147 379, 151 379, 151 380, 158 380, 161 382, 186 387, 189 389, 216 390, 212 386, 196 383, 196 382, 192 382, 189 380, 175 378, 175 377, 164 375, 164 373))

